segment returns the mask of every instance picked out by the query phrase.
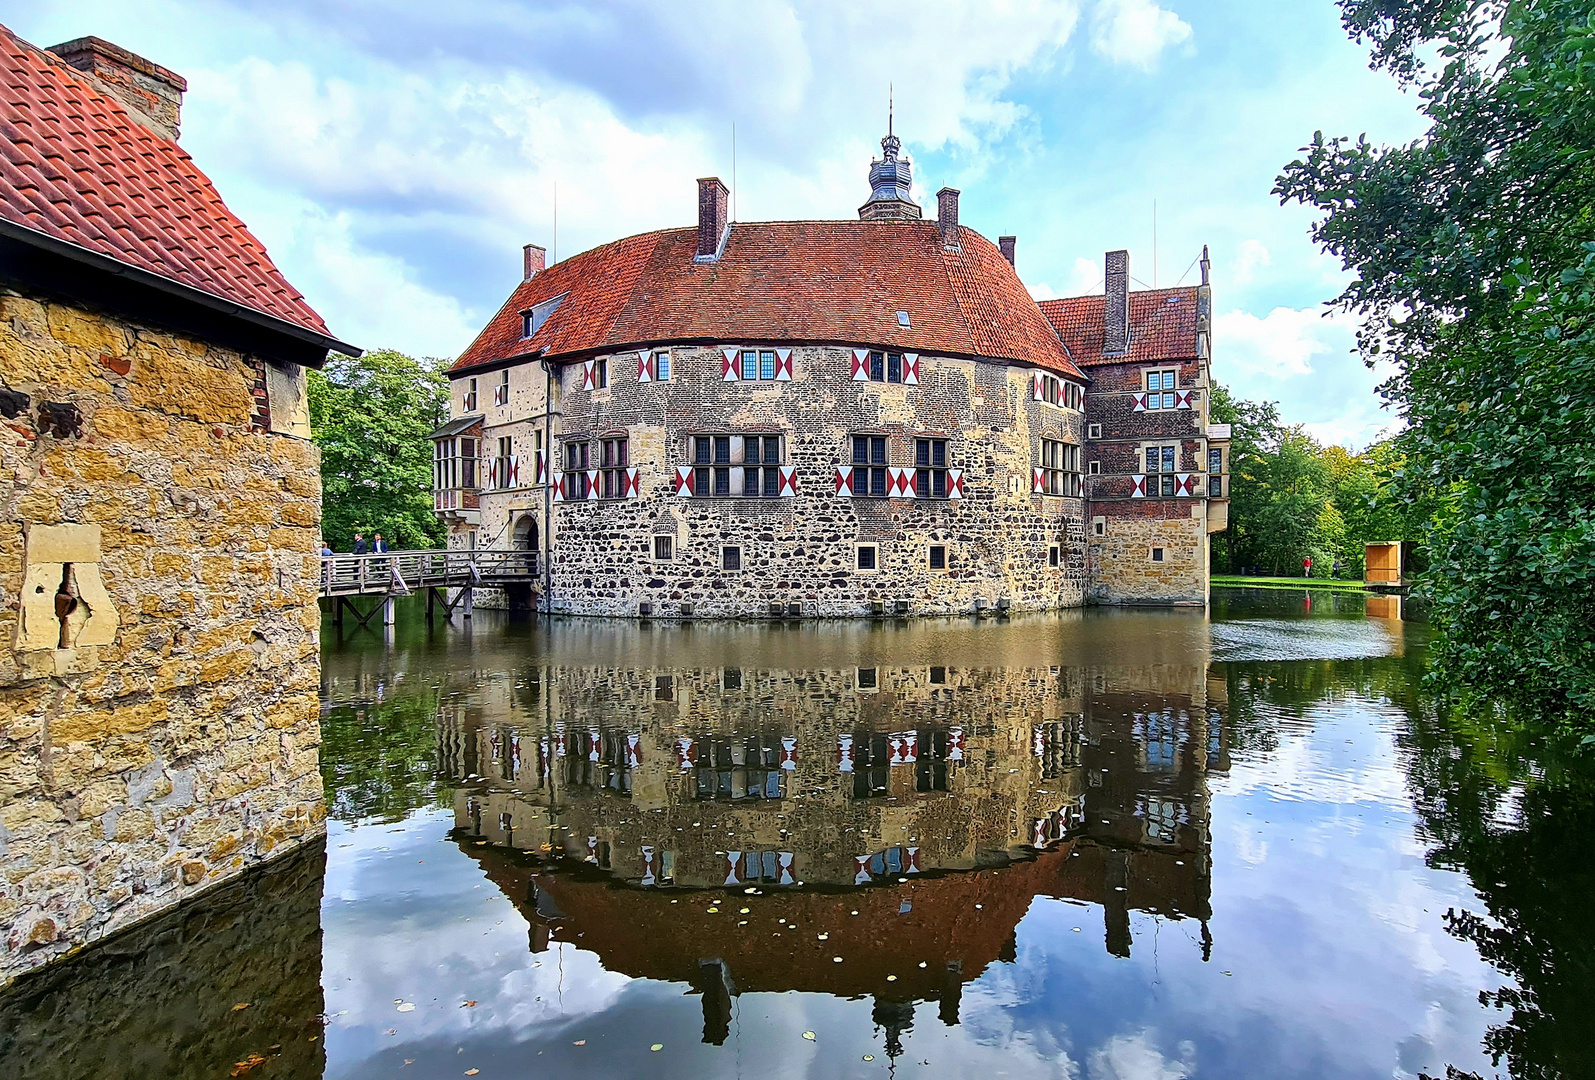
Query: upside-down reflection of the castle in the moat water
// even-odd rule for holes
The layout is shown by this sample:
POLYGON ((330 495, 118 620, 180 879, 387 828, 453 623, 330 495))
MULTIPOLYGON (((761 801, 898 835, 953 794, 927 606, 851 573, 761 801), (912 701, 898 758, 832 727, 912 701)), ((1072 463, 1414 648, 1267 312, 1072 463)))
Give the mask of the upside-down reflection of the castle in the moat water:
POLYGON ((970 627, 566 640, 443 697, 455 836, 534 952, 691 984, 707 1042, 737 994, 810 991, 872 997, 892 1053, 916 1002, 959 1021, 1037 897, 1101 906, 1116 956, 1132 911, 1196 919, 1207 957, 1228 758, 1191 622, 1137 622, 1113 657, 1067 622, 976 651, 970 627))

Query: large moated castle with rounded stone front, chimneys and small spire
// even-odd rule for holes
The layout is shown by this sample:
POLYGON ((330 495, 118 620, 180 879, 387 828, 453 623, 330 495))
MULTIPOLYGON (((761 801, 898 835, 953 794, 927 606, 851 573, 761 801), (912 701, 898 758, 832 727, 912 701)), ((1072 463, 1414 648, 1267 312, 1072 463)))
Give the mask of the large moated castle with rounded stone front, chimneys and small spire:
MULTIPOLYGON (((927 222, 895 136, 857 222, 727 219, 544 266, 451 370, 435 506, 545 611, 955 614, 1206 603, 1228 431, 1203 284, 1037 305, 1014 238, 927 222)), ((486 598, 493 603, 493 598, 486 598)), ((478 600, 482 603, 482 600, 478 600)))

